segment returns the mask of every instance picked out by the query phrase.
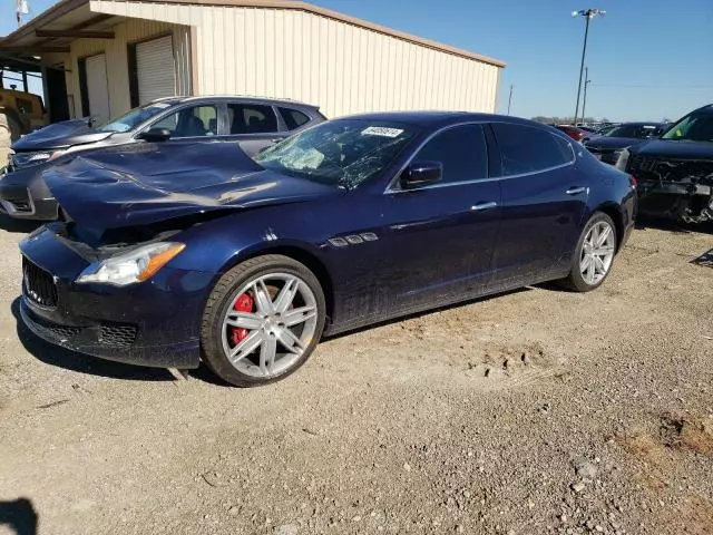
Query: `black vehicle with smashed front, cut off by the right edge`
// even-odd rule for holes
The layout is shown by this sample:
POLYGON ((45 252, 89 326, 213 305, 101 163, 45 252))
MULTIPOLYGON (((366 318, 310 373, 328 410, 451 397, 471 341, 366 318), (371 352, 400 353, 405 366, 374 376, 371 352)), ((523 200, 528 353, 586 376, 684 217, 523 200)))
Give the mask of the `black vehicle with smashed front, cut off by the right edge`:
POLYGON ((686 115, 661 138, 625 149, 617 167, 638 181, 642 214, 713 220, 713 105, 686 115))

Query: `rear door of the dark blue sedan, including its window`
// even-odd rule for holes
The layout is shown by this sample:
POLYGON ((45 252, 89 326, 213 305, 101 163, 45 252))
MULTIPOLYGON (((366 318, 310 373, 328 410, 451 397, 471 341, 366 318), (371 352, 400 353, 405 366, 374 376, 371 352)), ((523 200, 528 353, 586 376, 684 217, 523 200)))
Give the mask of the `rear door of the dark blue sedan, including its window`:
POLYGON ((544 128, 494 123, 501 158, 502 221, 494 285, 510 288, 568 266, 588 187, 572 142, 544 128))

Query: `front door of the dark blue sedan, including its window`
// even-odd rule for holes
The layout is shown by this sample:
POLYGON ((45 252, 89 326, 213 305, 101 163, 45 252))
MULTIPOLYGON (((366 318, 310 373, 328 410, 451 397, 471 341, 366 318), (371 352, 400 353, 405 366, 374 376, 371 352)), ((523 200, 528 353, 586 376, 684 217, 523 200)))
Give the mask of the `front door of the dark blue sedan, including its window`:
POLYGON ((402 311, 466 299, 490 278, 499 222, 500 185, 488 177, 482 125, 449 127, 413 158, 440 162, 440 183, 383 195, 379 233, 383 288, 402 311))

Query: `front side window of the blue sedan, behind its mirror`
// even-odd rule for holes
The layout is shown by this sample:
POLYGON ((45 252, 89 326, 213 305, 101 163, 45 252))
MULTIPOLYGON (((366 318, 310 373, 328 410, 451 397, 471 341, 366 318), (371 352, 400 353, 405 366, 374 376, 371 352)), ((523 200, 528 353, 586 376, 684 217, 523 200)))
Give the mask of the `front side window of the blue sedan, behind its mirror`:
POLYGON ((488 147, 482 126, 456 126, 437 134, 412 162, 440 162, 445 183, 487 178, 488 147))

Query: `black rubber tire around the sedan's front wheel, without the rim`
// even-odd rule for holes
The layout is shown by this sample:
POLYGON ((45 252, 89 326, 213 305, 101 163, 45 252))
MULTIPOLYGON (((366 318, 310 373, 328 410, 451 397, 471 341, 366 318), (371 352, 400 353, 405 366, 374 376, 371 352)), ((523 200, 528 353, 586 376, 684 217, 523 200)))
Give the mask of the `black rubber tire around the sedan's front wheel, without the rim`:
POLYGON ((300 262, 281 254, 255 256, 240 263, 225 273, 215 284, 206 302, 201 325, 201 347, 204 362, 224 381, 236 387, 257 387, 284 379, 296 371, 307 360, 316 347, 324 329, 326 304, 320 281, 300 262), (223 319, 233 305, 232 296, 250 279, 267 273, 296 275, 310 288, 316 300, 316 330, 304 352, 290 368, 268 378, 256 378, 237 370, 223 350, 223 319))

